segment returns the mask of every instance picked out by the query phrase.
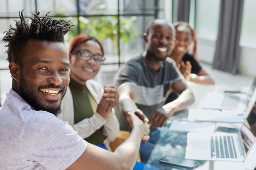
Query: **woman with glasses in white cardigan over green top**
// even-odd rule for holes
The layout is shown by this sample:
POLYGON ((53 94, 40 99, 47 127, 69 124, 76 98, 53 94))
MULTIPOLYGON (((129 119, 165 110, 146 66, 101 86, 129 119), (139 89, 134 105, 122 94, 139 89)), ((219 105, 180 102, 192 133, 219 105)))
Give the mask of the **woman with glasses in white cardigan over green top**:
POLYGON ((95 37, 79 34, 69 47, 70 84, 61 104, 59 119, 69 124, 87 142, 106 149, 119 131, 113 107, 117 87, 102 87, 95 77, 105 60, 101 43, 95 37))

